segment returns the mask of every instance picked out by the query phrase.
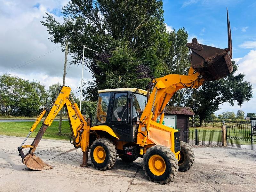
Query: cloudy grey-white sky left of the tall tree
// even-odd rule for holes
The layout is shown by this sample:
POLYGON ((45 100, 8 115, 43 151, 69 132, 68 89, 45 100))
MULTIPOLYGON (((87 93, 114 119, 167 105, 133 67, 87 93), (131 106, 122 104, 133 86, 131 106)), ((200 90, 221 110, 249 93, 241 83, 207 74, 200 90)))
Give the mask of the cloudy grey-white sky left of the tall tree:
MULTIPOLYGON (((0 74, 8 72, 25 61, 31 60, 60 46, 52 43, 48 37, 47 28, 42 26, 45 12, 53 12, 58 22, 63 22, 60 9, 67 0, 38 0, 34 1, 2 1, 0 6, 0 74)), ((81 46, 82 49, 82 46, 81 46)), ((62 83, 65 53, 57 49, 39 60, 11 71, 27 80, 37 80, 49 85, 62 83)), ((68 62, 71 60, 68 56, 68 62)), ((89 72, 84 71, 84 79, 91 79, 89 72)), ((81 65, 71 66, 67 70, 66 85, 74 92, 81 83, 81 65)))

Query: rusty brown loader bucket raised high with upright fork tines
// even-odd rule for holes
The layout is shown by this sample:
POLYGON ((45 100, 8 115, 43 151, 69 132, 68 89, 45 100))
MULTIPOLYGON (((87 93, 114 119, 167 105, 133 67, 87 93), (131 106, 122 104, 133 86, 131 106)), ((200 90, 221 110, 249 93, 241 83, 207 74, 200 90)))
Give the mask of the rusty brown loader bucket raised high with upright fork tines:
POLYGON ((233 71, 231 63, 232 59, 232 39, 230 22, 228 19, 228 48, 219 49, 203 44, 199 44, 197 39, 192 39, 192 43, 186 46, 191 52, 191 66, 193 69, 201 73, 205 81, 214 81, 228 76, 233 71))

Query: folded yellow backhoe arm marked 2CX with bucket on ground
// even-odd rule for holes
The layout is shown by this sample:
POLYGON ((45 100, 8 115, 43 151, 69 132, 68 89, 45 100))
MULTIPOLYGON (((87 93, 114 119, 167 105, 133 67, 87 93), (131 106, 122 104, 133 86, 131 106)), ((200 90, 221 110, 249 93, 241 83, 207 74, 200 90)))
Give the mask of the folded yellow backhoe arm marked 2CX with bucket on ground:
MULTIPOLYGON (((82 116, 77 104, 75 103, 72 95, 70 94, 71 89, 67 86, 62 86, 60 92, 56 96, 55 100, 53 101, 51 108, 44 108, 40 115, 37 117, 35 123, 32 125, 28 136, 23 141, 20 147, 18 147, 20 156, 22 158, 22 162, 27 165, 28 168, 33 170, 45 170, 51 169, 52 167, 48 164, 45 164, 39 157, 35 156, 35 150, 42 139, 44 132, 51 126, 54 118, 60 112, 60 109, 65 107, 68 115, 68 120, 70 124, 70 129, 73 135, 73 144, 75 148, 82 148, 83 156, 88 156, 89 150, 89 134, 90 134, 90 123, 87 123, 82 116), (71 100, 69 99, 71 98, 71 100), (25 141, 28 139, 29 135, 34 132, 36 126, 40 123, 41 119, 43 118, 44 114, 48 112, 46 115, 44 122, 38 131, 34 141, 31 145, 23 145, 25 141), (29 152, 24 155, 22 149, 23 148, 30 148, 29 152), (85 154, 86 153, 86 154, 85 154)), ((86 158, 87 159, 87 158, 86 158)), ((83 158, 84 161, 84 158, 83 158)), ((84 162, 83 162, 84 163, 84 162)), ((87 162, 86 162, 87 164, 87 162)))

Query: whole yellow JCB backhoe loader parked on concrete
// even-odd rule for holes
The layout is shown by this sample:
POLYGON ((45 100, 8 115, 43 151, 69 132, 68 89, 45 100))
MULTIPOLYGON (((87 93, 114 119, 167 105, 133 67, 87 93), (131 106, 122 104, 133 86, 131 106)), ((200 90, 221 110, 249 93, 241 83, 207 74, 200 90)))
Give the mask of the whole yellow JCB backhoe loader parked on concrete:
POLYGON ((219 49, 199 44, 194 38, 186 44, 191 52, 188 75, 167 75, 153 79, 149 92, 136 88, 99 90, 99 100, 93 122, 82 116, 74 102, 71 89, 62 86, 50 108, 44 108, 18 147, 22 162, 32 170, 52 169, 35 156, 36 147, 47 127, 62 107, 66 108, 75 148, 83 151, 82 167, 86 167, 88 151, 96 169, 110 169, 119 156, 124 162, 143 158, 143 170, 149 180, 165 184, 179 171, 188 171, 194 163, 192 148, 180 141, 179 132, 164 126, 164 108, 172 95, 182 88, 198 88, 205 81, 218 80, 233 71, 232 42, 228 20, 228 48, 219 49), (148 98, 149 96, 149 98, 148 98), (31 145, 23 145, 36 129, 42 117, 44 122, 31 145), (157 123, 157 117, 160 122, 157 123), (29 148, 24 155, 23 149, 29 148))

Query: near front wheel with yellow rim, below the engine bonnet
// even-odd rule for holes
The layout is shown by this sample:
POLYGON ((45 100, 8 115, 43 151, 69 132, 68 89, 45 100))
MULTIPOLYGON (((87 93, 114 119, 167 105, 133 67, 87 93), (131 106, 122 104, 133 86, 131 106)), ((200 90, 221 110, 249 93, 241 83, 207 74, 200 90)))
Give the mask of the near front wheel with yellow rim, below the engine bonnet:
POLYGON ((178 160, 170 148, 155 145, 147 150, 143 158, 143 170, 150 181, 166 184, 177 175, 178 160))

